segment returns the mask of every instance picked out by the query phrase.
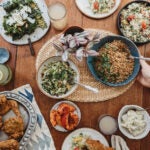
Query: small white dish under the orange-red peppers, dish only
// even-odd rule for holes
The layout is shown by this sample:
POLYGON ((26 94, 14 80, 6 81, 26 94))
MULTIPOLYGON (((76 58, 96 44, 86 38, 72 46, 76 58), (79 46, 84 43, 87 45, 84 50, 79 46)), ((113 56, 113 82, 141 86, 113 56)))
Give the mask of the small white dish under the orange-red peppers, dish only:
MULTIPOLYGON (((74 106, 74 107, 76 108, 76 110, 74 111, 74 114, 78 115, 78 117, 79 117, 78 124, 79 124, 79 122, 80 122, 80 120, 81 120, 81 112, 80 112, 79 107, 78 107, 75 103, 73 103, 73 102, 70 102, 70 101, 61 101, 61 102, 58 102, 58 103, 56 103, 56 104, 52 107, 51 111, 52 111, 52 110, 57 110, 58 106, 59 106, 60 104, 62 104, 62 103, 70 104, 70 105, 72 105, 72 106, 74 106)), ((51 111, 50 111, 50 113, 51 113, 51 111)), ((66 130, 65 128, 63 128, 63 127, 60 126, 60 125, 56 125, 54 128, 55 128, 57 131, 68 132, 68 130, 66 130)))

